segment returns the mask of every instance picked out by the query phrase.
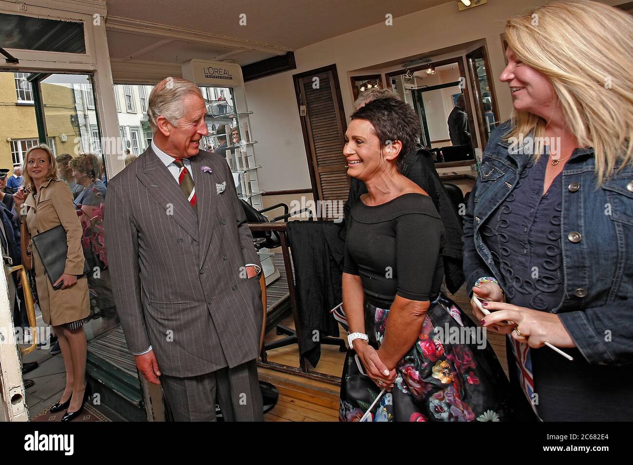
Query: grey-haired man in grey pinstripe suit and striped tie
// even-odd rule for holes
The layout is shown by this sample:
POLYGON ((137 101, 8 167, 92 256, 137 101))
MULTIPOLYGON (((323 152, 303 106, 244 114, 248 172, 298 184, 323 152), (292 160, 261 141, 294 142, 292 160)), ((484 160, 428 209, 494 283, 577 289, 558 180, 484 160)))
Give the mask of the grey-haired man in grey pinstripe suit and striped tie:
POLYGON ((154 139, 108 183, 106 248, 127 344, 176 421, 263 420, 260 264, 230 168, 199 149, 200 89, 149 96, 154 139), (160 380, 159 380, 160 377, 160 380))

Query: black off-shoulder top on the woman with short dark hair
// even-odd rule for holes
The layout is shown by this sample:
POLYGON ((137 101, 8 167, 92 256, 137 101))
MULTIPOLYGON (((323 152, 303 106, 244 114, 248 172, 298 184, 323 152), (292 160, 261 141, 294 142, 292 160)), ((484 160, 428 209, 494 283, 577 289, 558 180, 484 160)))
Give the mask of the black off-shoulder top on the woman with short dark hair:
POLYGON ((344 273, 360 275, 365 297, 388 309, 400 295, 432 301, 442 285, 444 226, 428 195, 411 192, 367 206, 351 207, 344 273))

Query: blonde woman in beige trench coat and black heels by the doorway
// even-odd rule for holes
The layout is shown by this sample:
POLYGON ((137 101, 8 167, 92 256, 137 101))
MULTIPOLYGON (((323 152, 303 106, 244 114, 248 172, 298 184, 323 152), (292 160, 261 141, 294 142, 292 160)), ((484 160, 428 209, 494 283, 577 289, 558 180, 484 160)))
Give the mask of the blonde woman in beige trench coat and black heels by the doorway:
MULTIPOLYGON (((65 181, 57 178, 56 161, 44 144, 29 149, 24 161, 24 187, 15 194, 16 210, 26 212, 31 237, 58 225, 66 230, 68 254, 60 279, 51 284, 44 264, 33 244, 28 247, 33 257, 35 285, 44 323, 52 325, 59 338, 66 367, 66 388, 51 412, 66 410, 61 421, 80 415, 89 392, 85 381, 86 340, 83 325, 89 319, 88 283, 84 273, 81 247, 82 228, 73 196, 65 181), (24 204, 25 208, 22 208, 24 204), (61 283, 61 288, 55 289, 61 283)), ((26 239, 23 239, 26 240, 26 239)))

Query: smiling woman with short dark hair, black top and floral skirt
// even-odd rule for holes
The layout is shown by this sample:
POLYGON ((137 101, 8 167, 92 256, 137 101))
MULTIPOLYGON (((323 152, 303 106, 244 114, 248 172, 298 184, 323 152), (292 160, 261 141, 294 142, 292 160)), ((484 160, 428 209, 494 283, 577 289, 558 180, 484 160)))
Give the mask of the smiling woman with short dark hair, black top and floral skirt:
POLYGON ((358 421, 377 397, 374 421, 505 417, 507 380, 492 349, 446 334, 475 325, 440 292, 441 218, 399 172, 400 155, 419 133, 417 116, 398 99, 369 102, 346 132, 348 174, 368 193, 351 206, 345 244, 343 308, 353 350, 341 381, 342 421, 358 421))

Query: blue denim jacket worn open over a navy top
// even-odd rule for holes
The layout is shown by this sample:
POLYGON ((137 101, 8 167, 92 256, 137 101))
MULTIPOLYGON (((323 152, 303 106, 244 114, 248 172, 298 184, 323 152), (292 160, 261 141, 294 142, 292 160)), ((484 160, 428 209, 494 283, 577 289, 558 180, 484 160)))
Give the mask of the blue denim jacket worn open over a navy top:
MULTIPOLYGON (((468 294, 482 276, 505 288, 480 227, 517 185, 530 159, 525 144, 503 140, 510 121, 492 132, 468 199, 463 258, 468 294), (524 153, 523 153, 524 152, 524 153)), ((576 149, 561 173, 564 297, 551 313, 590 364, 633 363, 633 166, 598 187, 591 147, 576 149)))

